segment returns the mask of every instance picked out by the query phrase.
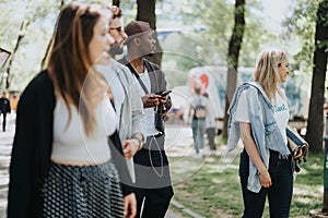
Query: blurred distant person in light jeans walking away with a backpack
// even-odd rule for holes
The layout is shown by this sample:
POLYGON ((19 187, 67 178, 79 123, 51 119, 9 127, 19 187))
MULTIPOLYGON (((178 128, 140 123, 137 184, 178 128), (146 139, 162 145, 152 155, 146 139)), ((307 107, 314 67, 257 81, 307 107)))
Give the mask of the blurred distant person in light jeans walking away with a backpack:
POLYGON ((195 158, 201 158, 204 148, 204 132, 206 118, 208 116, 208 99, 200 94, 200 88, 195 88, 195 96, 192 97, 188 111, 188 122, 192 129, 195 158), (192 116, 192 118, 191 118, 192 116))

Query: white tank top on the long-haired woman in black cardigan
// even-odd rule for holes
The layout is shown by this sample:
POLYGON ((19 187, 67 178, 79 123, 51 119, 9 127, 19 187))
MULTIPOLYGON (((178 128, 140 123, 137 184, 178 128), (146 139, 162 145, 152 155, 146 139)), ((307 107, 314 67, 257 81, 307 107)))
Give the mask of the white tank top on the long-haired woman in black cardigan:
POLYGON ((95 126, 92 135, 86 135, 84 123, 78 109, 69 111, 62 98, 57 99, 54 111, 54 143, 51 160, 102 164, 110 159, 107 136, 116 129, 116 118, 107 96, 95 108, 95 126))

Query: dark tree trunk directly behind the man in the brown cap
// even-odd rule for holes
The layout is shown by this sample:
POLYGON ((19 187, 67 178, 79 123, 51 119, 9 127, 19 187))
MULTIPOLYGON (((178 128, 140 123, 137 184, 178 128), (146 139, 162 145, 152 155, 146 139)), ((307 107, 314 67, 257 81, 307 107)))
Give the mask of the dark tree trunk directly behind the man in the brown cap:
MULTIPOLYGON (((137 0, 137 21, 148 22, 153 31, 156 31, 156 14, 155 5, 156 0, 137 0)), ((156 53, 152 57, 147 57, 151 62, 161 65, 162 62, 162 48, 157 39, 157 35, 154 34, 154 39, 156 40, 156 53)))

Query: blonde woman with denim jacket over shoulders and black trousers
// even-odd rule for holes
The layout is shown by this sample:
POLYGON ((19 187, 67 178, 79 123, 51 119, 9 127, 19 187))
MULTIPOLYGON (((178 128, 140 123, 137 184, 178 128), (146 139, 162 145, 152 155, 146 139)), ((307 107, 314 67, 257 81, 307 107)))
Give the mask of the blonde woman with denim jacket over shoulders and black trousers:
POLYGON ((244 198, 243 217, 262 217, 266 197, 270 217, 289 217, 293 194, 293 165, 288 147, 290 113, 281 83, 286 82, 289 60, 279 49, 263 50, 254 82, 242 84, 229 109, 227 150, 241 138, 239 178, 244 198))

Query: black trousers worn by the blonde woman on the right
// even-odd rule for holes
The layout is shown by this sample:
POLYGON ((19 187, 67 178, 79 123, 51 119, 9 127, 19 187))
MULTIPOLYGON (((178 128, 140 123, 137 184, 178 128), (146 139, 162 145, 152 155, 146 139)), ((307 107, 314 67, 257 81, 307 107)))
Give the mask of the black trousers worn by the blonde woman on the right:
POLYGON ((249 157, 244 149, 241 154, 239 177, 244 198, 244 218, 262 217, 266 197, 269 199, 270 218, 289 217, 293 194, 293 166, 291 158, 282 159, 279 153, 270 150, 270 187, 262 187, 259 193, 247 190, 249 157))

